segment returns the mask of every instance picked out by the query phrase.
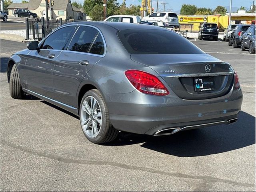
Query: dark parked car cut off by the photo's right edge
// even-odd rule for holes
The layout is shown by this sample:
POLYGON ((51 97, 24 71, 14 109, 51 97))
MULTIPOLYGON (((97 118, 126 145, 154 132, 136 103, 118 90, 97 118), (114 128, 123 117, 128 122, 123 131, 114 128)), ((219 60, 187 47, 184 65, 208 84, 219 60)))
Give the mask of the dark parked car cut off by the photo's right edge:
POLYGON ((246 48, 250 53, 255 53, 255 25, 250 26, 242 36, 241 50, 246 48))

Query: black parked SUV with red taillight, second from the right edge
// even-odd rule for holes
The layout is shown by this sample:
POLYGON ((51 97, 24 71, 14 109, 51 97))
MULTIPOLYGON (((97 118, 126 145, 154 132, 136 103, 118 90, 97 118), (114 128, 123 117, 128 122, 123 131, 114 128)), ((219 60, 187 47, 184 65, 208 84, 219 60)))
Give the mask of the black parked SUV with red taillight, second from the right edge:
POLYGON ((233 45, 234 48, 240 47, 242 42, 242 36, 250 26, 251 25, 244 25, 244 24, 237 25, 234 31, 229 36, 228 45, 229 46, 233 45))

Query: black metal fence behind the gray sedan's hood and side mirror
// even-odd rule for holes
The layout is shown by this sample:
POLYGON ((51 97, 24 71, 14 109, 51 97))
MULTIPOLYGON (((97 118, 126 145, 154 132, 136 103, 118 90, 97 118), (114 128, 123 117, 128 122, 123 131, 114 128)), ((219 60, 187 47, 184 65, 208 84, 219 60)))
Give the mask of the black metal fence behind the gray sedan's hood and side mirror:
POLYGON ((60 20, 48 20, 46 21, 44 17, 29 19, 26 18, 26 40, 42 40, 50 32, 54 31, 59 26, 69 23, 70 21, 60 20))

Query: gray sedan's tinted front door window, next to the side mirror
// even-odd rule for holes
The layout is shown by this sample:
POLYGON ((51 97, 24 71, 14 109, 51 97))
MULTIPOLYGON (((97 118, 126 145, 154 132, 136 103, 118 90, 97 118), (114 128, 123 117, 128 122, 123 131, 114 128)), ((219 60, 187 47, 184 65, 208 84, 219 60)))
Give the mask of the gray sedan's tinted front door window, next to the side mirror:
POLYGON ((64 27, 52 33, 43 42, 41 49, 56 49, 64 50, 71 33, 74 30, 74 26, 64 27))

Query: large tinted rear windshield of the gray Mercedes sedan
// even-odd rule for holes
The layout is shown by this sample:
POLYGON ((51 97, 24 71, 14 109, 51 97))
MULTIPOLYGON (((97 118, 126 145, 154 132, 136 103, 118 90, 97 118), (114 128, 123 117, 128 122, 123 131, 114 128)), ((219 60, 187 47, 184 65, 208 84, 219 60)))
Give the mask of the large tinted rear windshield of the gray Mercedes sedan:
POLYGON ((117 33, 130 54, 204 54, 179 34, 156 29, 128 29, 117 33))

